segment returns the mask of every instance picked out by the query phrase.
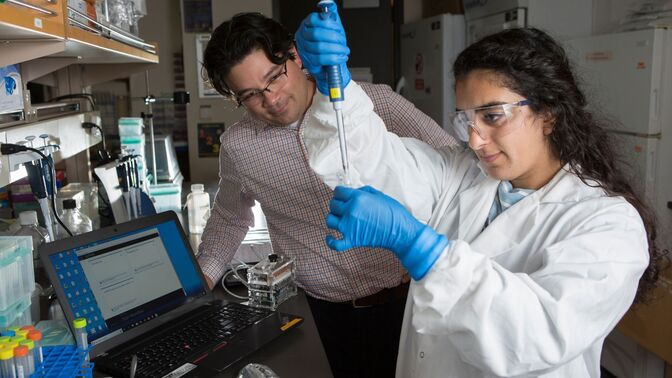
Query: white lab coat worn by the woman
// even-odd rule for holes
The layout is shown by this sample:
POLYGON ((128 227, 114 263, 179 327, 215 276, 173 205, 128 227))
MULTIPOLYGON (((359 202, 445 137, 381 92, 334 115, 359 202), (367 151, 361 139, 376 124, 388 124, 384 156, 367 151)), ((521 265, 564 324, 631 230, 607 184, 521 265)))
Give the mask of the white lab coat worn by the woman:
MULTIPOLYGON (((648 265, 635 208, 565 167, 483 229, 499 181, 478 168, 471 151, 401 140, 370 114, 355 83, 345 96, 349 146, 365 146, 350 155, 356 184, 430 214, 429 226, 450 240, 430 272, 411 283, 397 376, 599 377, 604 338, 648 265), (388 191, 385 183, 395 180, 425 197, 388 191)), ((338 140, 324 132, 335 121, 319 97, 304 137, 311 166, 333 187, 338 140)))

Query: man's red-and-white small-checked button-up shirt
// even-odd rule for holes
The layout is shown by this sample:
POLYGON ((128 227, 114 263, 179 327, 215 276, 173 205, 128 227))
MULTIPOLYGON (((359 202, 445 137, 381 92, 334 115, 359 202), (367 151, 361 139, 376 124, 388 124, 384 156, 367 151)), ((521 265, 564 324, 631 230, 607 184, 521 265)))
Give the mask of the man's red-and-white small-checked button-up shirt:
MULTIPOLYGON (((434 147, 455 140, 387 85, 360 84, 388 129, 434 147)), ((311 111, 310 109, 308 111, 311 111)), ((332 191, 313 172, 298 128, 276 127, 246 115, 220 138, 219 190, 203 232, 198 261, 213 280, 222 277, 259 201, 273 251, 295 259, 297 281, 309 295, 332 302, 397 286, 405 270, 386 250, 330 250, 324 238, 332 191)))

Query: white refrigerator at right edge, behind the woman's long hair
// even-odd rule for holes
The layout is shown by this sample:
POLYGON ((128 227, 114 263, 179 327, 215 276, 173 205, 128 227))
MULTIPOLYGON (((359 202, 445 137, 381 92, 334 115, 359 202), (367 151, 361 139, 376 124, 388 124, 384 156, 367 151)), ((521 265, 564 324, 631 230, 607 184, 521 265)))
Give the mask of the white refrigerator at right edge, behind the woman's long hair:
POLYGON ((591 108, 611 128, 628 173, 672 250, 672 30, 647 29, 566 42, 591 108))

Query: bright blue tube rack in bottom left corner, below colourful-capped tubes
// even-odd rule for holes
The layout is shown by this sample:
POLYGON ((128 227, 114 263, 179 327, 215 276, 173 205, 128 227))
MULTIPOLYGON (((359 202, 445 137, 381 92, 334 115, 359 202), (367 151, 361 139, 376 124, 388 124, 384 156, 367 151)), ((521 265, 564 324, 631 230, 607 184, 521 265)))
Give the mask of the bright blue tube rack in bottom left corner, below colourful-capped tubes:
POLYGON ((85 353, 74 345, 44 346, 42 356, 44 362, 35 368, 31 378, 93 377, 93 363, 85 364, 85 353))

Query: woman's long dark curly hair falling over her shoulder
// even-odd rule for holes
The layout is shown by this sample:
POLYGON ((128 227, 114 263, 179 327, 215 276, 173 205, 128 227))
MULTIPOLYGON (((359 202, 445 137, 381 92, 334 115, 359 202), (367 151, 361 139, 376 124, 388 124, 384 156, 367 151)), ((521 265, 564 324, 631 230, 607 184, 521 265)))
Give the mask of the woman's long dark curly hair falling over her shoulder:
POLYGON ((655 215, 635 194, 621 170, 606 121, 586 109, 565 50, 548 34, 534 28, 509 29, 487 36, 467 47, 455 60, 455 81, 476 69, 491 70, 505 87, 530 100, 537 114, 554 120, 549 135, 552 153, 568 164, 586 185, 594 180, 610 196, 622 196, 641 216, 649 243, 649 266, 639 281, 635 303, 650 296, 667 253, 656 245, 655 215))

